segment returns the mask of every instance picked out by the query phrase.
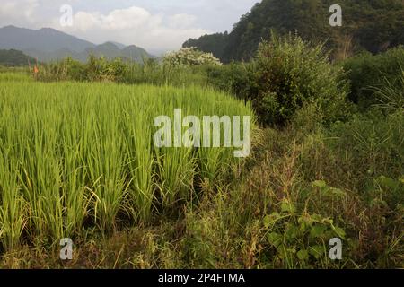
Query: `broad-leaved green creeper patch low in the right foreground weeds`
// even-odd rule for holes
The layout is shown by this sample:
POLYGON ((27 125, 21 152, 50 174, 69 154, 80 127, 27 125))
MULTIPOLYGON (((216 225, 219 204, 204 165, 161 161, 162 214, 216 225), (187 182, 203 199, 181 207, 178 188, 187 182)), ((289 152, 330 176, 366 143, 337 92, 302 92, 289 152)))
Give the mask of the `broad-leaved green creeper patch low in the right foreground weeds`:
MULTIPOLYGON (((321 196, 329 196, 334 200, 346 196, 344 191, 318 180, 304 190, 303 200, 318 201, 317 188, 321 196)), ((280 202, 279 213, 273 212, 263 218, 268 240, 265 252, 275 256, 274 262, 287 268, 332 265, 328 257, 329 239, 347 239, 346 232, 331 218, 308 213, 307 209, 310 209, 309 206, 303 212, 298 212, 294 203, 284 199, 280 202)))

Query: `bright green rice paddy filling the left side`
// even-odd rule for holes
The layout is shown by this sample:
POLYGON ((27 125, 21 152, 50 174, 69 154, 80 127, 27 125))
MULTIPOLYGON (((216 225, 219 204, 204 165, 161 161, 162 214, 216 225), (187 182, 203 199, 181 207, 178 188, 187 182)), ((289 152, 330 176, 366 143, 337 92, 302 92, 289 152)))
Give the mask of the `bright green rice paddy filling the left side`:
POLYGON ((253 116, 248 105, 198 87, 37 83, 0 74, 2 249, 153 221, 241 161, 228 148, 156 148, 154 117, 176 108, 253 116))

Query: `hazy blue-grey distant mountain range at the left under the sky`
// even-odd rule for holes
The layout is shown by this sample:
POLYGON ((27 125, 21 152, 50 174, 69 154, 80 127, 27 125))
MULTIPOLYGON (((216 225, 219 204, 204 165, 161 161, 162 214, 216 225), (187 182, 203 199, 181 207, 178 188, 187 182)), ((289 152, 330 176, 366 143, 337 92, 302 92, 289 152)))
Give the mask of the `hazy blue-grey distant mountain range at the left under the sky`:
POLYGON ((21 50, 28 56, 38 58, 41 62, 65 57, 85 61, 90 55, 109 59, 121 57, 136 62, 143 62, 143 58, 154 57, 145 49, 136 46, 126 47, 116 42, 95 45, 50 28, 40 30, 14 26, 0 28, 0 48, 21 50))

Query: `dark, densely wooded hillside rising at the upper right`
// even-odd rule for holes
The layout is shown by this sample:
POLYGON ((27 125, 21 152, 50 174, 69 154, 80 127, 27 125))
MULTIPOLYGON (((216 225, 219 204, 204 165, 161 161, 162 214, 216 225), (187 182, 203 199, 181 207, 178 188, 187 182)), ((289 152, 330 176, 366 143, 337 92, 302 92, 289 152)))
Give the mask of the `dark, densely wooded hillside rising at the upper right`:
POLYGON ((404 3, 401 0, 341 0, 342 27, 329 26, 329 0, 263 0, 234 24, 230 33, 189 39, 184 47, 212 52, 224 62, 248 60, 270 31, 284 35, 297 31, 306 40, 325 41, 333 57, 344 58, 358 50, 372 53, 404 44, 404 3))

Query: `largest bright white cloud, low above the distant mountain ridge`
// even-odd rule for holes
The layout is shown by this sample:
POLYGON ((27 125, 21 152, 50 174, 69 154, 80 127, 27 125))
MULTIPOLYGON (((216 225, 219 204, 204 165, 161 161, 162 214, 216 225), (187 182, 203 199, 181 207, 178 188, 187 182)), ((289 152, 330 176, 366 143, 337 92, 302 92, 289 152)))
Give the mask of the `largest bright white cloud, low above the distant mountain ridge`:
POLYGON ((166 16, 131 6, 105 14, 80 11, 74 14, 72 27, 60 27, 57 19, 51 26, 99 43, 114 40, 162 50, 180 48, 185 40, 206 34, 208 30, 194 27, 196 19, 186 13, 166 16))

